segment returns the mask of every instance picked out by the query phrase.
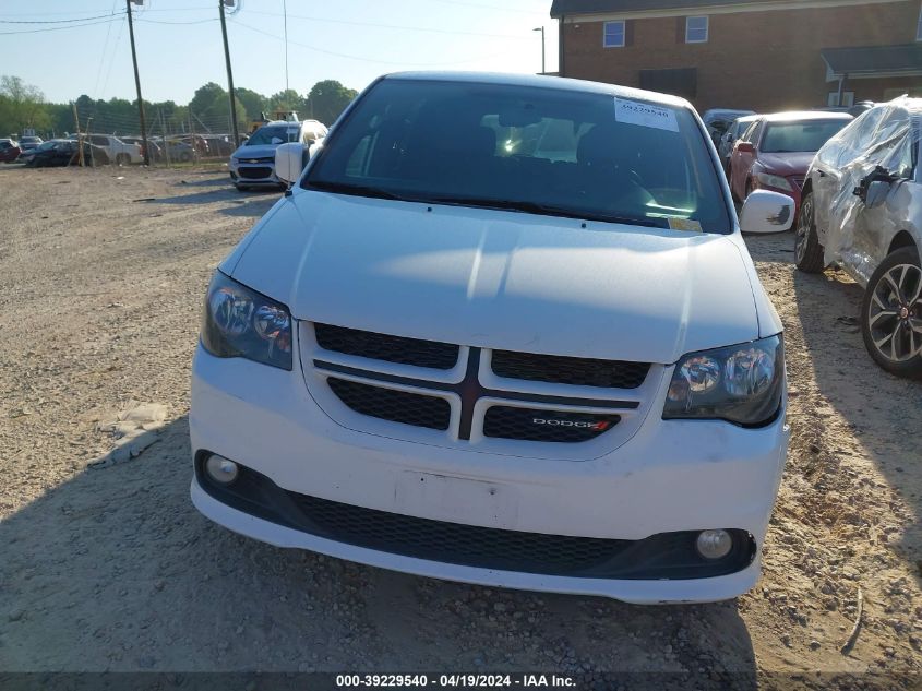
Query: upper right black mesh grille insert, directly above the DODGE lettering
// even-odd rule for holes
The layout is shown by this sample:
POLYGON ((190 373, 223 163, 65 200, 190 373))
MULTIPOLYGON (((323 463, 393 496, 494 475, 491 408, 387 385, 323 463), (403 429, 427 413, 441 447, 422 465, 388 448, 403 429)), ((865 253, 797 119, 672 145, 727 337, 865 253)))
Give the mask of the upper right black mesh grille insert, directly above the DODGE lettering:
POLYGON ((597 360, 511 350, 493 350, 492 367, 496 376, 507 379, 603 389, 636 389, 644 383, 650 370, 649 362, 597 360))

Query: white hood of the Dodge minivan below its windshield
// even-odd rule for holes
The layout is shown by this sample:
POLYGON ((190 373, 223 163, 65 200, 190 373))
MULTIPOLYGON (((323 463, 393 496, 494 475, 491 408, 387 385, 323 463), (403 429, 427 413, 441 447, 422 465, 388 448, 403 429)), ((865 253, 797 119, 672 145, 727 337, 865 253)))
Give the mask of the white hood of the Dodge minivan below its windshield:
POLYGON ((758 337, 734 237, 583 225, 296 190, 223 269, 296 319, 488 348, 667 364, 758 337))

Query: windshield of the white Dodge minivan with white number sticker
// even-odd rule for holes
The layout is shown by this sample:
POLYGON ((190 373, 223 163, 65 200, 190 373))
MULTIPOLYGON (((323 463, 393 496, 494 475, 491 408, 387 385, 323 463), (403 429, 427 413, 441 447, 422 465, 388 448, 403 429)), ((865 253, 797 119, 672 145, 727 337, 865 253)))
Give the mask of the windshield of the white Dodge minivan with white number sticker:
POLYGON ((343 121, 303 187, 730 233, 684 108, 611 95, 390 79, 343 121))

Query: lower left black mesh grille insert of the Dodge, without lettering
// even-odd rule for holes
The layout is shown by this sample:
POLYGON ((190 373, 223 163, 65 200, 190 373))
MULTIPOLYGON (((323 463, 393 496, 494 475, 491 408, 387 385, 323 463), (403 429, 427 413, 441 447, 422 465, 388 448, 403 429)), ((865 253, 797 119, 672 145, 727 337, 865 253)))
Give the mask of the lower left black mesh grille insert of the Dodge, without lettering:
POLYGON ((448 429, 452 406, 444 398, 383 389, 331 377, 326 380, 339 400, 356 413, 382 420, 430 429, 448 429))

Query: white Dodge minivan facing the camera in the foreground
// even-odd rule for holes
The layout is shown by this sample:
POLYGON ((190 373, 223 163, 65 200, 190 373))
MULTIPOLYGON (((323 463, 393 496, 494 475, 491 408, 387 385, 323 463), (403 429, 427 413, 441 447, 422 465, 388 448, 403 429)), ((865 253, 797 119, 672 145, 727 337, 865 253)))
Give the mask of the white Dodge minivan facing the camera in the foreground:
MULTIPOLYGON (((383 78, 219 265, 192 500, 273 545, 632 603, 756 582, 781 322, 683 99, 383 78)), ((756 191, 747 231, 786 230, 756 191)))

